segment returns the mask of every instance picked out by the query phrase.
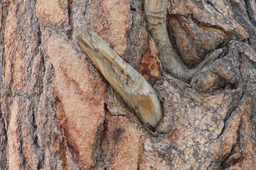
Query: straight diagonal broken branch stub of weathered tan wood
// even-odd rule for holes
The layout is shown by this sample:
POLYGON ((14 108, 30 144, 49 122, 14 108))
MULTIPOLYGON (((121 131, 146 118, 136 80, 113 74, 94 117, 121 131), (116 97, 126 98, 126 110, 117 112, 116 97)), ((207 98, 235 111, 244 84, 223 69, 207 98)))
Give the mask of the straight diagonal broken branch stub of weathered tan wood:
POLYGON ((78 43, 113 89, 136 111, 144 124, 156 127, 163 111, 154 89, 131 65, 119 57, 100 36, 76 27, 78 43))

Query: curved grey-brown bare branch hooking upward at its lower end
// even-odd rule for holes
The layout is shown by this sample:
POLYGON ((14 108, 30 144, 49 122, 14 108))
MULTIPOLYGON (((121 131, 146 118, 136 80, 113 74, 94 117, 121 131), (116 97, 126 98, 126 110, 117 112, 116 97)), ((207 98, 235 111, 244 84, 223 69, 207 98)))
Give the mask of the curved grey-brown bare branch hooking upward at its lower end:
POLYGON ((207 64, 219 56, 211 55, 211 57, 205 58, 205 60, 198 64, 195 69, 188 69, 173 49, 169 39, 166 26, 166 4, 167 0, 145 1, 144 10, 147 29, 157 45, 163 69, 175 78, 190 80, 195 73, 201 71, 207 64))

